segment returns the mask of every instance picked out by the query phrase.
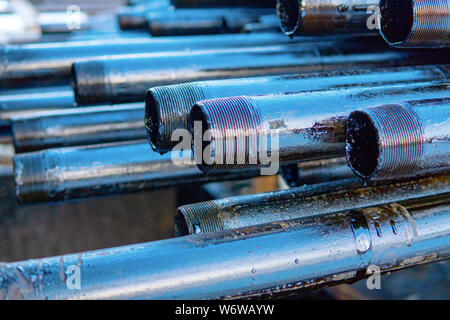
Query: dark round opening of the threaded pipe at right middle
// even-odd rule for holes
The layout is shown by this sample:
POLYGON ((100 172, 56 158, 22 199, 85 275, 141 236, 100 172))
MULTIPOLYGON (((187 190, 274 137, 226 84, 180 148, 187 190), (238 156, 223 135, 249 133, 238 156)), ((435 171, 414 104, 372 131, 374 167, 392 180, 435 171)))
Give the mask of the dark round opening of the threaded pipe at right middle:
POLYGON ((346 153, 350 168, 358 176, 368 179, 375 174, 380 157, 378 131, 365 112, 352 112, 347 120, 346 153))

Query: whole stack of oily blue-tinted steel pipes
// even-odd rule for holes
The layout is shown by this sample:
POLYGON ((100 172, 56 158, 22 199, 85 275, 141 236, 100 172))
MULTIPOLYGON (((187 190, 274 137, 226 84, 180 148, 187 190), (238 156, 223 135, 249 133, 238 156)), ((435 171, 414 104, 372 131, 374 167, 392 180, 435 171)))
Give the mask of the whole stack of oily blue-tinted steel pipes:
POLYGON ((1 48, 21 204, 287 187, 181 206, 174 239, 0 265, 0 298, 261 297, 448 259, 448 0, 134 0, 114 18, 106 39, 1 48))

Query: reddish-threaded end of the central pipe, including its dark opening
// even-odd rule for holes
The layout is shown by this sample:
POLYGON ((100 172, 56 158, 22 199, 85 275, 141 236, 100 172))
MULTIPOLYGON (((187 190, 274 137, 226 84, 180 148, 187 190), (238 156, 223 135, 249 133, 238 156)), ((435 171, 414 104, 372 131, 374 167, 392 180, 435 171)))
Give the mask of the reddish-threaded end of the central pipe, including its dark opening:
POLYGON ((200 170, 219 172, 259 165, 258 135, 262 132, 262 117, 250 97, 197 102, 189 122, 194 137, 194 158, 200 170), (197 141, 195 123, 201 124, 201 141, 197 141))

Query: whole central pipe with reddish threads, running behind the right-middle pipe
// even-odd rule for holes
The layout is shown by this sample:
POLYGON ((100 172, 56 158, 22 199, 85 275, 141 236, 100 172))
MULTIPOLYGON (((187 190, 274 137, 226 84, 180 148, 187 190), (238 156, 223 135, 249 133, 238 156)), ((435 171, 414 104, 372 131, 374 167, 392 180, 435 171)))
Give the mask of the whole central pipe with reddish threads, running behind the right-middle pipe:
POLYGON ((351 112, 449 94, 434 82, 203 100, 190 113, 192 150, 204 172, 345 156, 351 112))

